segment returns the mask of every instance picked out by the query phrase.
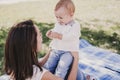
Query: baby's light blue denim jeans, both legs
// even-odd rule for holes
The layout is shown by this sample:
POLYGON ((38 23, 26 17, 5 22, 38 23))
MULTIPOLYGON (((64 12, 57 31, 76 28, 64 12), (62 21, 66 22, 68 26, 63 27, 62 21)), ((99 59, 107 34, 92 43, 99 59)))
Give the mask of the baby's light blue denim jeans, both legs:
POLYGON ((69 51, 52 50, 44 67, 56 76, 65 79, 72 61, 73 57, 69 51))

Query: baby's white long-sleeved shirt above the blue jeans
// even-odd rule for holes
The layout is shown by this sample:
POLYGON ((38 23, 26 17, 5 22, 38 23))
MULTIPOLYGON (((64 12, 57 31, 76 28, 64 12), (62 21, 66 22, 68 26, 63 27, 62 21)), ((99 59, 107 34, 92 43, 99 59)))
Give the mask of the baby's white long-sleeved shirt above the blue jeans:
POLYGON ((67 25, 55 24, 53 32, 62 34, 62 40, 52 39, 50 47, 56 50, 79 51, 80 24, 72 21, 67 25))

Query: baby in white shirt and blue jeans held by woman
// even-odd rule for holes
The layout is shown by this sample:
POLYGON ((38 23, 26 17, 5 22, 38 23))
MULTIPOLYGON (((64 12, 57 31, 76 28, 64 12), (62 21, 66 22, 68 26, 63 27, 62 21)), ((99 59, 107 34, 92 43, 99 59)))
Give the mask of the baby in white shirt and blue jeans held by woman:
POLYGON ((50 55, 44 67, 65 79, 73 61, 71 53, 79 51, 80 24, 73 19, 75 6, 71 0, 60 0, 54 12, 57 22, 46 33, 52 41, 49 45, 50 55))

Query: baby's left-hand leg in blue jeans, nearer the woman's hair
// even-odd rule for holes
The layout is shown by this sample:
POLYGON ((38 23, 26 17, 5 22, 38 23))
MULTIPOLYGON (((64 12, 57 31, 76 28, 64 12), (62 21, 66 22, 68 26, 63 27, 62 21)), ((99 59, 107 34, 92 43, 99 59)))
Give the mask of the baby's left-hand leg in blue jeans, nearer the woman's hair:
POLYGON ((51 50, 48 60, 46 61, 44 68, 49 70, 51 73, 55 72, 57 67, 58 61, 60 59, 60 51, 58 50, 51 50))

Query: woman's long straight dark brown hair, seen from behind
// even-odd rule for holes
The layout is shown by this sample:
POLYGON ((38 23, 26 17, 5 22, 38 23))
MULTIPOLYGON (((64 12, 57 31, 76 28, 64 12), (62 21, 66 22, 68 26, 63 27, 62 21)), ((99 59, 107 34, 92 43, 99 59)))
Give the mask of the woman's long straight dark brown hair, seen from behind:
POLYGON ((37 59, 37 32, 32 20, 13 26, 5 44, 5 72, 15 80, 32 77, 33 65, 42 71, 37 59))

